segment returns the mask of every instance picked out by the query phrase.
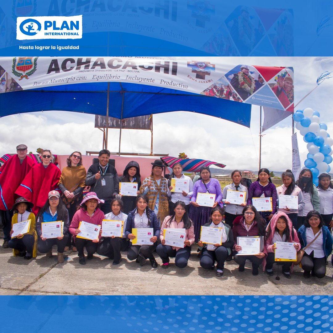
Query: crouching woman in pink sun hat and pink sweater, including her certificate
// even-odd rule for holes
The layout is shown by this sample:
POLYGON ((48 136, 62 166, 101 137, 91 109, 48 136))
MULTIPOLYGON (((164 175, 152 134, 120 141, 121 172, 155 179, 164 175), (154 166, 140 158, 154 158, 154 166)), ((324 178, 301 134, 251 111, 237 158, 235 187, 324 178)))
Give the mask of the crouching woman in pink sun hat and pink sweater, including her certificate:
POLYGON ((87 250, 87 259, 94 258, 98 243, 101 239, 100 226, 104 219, 103 211, 98 207, 104 200, 99 199, 95 192, 88 192, 81 202, 81 208, 74 214, 69 227, 74 236, 75 245, 78 249, 79 263, 86 264, 84 247, 87 250))

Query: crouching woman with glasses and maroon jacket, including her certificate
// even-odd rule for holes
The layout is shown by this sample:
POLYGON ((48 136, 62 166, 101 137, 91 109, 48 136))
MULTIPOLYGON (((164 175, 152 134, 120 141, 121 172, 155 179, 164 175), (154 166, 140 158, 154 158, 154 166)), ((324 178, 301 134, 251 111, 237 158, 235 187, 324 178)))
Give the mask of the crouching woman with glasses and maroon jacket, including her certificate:
POLYGON ((233 249, 237 252, 234 258, 239 265, 240 272, 245 270, 246 260, 250 260, 252 274, 259 274, 258 267, 267 256, 265 227, 265 220, 253 205, 246 205, 243 209, 243 216, 238 216, 233 221, 233 249), (259 242, 258 236, 260 237, 259 242))

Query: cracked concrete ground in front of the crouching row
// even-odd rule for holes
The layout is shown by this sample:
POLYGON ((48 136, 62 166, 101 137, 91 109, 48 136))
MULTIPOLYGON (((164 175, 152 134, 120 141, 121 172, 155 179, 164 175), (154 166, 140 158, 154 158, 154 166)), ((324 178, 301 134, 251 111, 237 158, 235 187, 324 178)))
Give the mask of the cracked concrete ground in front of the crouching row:
MULTIPOLYGON (((1 230, 2 231, 2 230, 1 230)), ((2 237, 1 237, 2 238, 2 237)), ((2 240, 0 241, 2 245, 2 240)), ((297 266, 291 279, 280 274, 276 280, 259 268, 253 276, 251 263, 247 261, 244 272, 232 260, 225 263, 222 277, 216 270, 200 267, 192 246, 188 266, 181 269, 170 261, 170 267, 162 268, 162 260, 155 254, 159 267, 151 267, 149 260, 143 266, 127 259, 122 252, 122 262, 112 265, 112 260, 99 255, 79 264, 77 252, 65 252, 65 263, 58 264, 57 256, 46 258, 38 253, 36 259, 14 257, 12 249, 0 247, 0 295, 330 295, 333 290, 331 256, 323 279, 303 278, 297 266)), ((56 248, 53 248, 56 253, 56 248)), ((281 268, 280 268, 281 272, 281 268)))

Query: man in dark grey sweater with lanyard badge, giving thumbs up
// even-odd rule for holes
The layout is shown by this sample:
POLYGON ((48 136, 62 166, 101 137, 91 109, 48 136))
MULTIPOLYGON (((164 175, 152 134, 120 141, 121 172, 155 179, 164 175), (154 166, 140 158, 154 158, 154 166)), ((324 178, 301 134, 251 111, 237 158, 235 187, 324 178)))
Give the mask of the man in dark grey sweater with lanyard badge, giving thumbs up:
POLYGON ((110 213, 110 202, 113 197, 119 196, 119 178, 116 168, 109 164, 110 152, 103 149, 98 154, 98 163, 89 167, 86 185, 103 200, 101 210, 104 214, 110 213))

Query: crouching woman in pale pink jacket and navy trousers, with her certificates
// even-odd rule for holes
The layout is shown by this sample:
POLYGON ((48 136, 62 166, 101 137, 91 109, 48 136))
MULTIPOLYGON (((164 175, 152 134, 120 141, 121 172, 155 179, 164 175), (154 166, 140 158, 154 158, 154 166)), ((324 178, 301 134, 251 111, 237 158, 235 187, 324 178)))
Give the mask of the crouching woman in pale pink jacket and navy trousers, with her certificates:
POLYGON ((187 215, 185 202, 177 201, 173 214, 166 216, 162 223, 160 239, 161 244, 157 246, 156 252, 162 259, 162 267, 169 266, 169 258, 175 258, 174 263, 177 267, 186 267, 191 245, 194 243, 194 228, 187 215))

